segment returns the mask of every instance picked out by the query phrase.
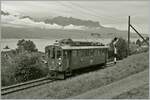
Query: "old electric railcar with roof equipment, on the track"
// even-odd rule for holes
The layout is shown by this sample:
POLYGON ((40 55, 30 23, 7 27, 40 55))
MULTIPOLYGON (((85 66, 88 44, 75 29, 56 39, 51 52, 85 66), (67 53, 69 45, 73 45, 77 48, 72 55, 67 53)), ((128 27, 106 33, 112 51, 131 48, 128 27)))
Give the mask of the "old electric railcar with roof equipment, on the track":
POLYGON ((65 79, 74 70, 106 64, 108 47, 72 41, 48 45, 45 47, 45 54, 49 68, 48 77, 65 79))

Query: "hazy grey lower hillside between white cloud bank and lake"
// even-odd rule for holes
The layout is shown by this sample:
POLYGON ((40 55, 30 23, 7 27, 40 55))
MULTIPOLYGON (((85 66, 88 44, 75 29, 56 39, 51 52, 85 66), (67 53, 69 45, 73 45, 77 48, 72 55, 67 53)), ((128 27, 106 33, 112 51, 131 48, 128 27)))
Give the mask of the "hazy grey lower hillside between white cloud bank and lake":
MULTIPOLYGON (((120 31, 113 28, 87 29, 87 30, 61 30, 61 29, 41 29, 41 28, 16 28, 2 27, 1 36, 4 39, 10 38, 113 38, 115 36, 127 38, 126 31, 120 31), (92 33, 100 34, 93 36, 92 33)), ((147 36, 147 35, 145 35, 147 36)), ((132 38, 138 37, 137 34, 131 34, 132 38)))

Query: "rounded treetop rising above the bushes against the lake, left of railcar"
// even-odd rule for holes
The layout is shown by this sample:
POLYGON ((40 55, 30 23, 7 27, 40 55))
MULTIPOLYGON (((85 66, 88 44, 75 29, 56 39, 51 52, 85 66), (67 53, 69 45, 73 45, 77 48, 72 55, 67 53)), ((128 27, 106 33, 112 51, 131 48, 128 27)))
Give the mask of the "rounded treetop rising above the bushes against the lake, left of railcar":
POLYGON ((17 46, 18 46, 17 49, 21 52, 24 52, 24 51, 36 52, 36 51, 38 51, 36 49, 35 44, 31 40, 24 40, 24 39, 19 40, 18 43, 17 43, 17 46))

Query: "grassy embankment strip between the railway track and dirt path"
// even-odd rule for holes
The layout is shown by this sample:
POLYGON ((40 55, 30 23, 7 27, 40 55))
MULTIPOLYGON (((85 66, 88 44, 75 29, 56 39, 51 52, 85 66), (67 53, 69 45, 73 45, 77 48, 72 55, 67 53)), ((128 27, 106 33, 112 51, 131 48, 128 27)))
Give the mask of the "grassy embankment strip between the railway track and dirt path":
POLYGON ((51 99, 71 98, 87 91, 108 85, 149 67, 148 53, 129 56, 113 67, 71 77, 64 81, 54 81, 24 91, 4 95, 2 98, 12 99, 51 99))

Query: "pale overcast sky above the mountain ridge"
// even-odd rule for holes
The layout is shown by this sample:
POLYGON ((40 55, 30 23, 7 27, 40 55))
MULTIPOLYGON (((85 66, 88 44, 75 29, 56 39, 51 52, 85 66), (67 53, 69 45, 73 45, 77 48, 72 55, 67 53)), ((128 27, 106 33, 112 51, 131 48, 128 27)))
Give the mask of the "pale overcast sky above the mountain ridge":
POLYGON ((66 16, 127 30, 128 16, 140 33, 150 32, 150 1, 2 1, 1 9, 36 18, 66 16))

